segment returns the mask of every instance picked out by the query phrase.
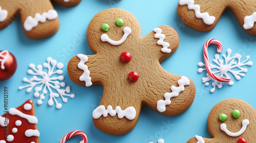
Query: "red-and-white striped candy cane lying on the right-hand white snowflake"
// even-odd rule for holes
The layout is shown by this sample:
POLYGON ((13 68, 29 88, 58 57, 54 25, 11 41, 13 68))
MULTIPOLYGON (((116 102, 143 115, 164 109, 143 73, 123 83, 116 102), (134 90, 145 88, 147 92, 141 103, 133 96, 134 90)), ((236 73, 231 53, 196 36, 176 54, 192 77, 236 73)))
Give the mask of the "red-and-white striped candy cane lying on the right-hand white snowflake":
POLYGON ((215 79, 216 81, 219 81, 219 82, 230 82, 230 78, 226 77, 220 77, 220 76, 217 76, 215 75, 214 73, 212 73, 212 70, 210 68, 210 62, 209 62, 209 57, 208 57, 208 46, 210 44, 216 44, 218 49, 217 49, 217 52, 218 53, 221 53, 222 52, 222 44, 219 40, 217 39, 209 39, 207 40, 205 43, 204 43, 204 49, 203 49, 203 53, 204 53, 204 63, 205 63, 205 67, 206 67, 206 70, 207 70, 207 73, 209 74, 209 76, 212 78, 212 79, 215 79))

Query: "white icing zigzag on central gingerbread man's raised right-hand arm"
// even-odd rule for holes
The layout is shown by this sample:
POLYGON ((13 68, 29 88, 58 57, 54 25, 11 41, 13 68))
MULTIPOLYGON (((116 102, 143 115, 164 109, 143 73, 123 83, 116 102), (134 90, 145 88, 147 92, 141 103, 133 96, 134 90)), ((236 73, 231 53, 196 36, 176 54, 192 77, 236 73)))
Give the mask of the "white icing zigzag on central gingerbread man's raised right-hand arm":
POLYGON ((164 42, 163 40, 165 39, 165 35, 161 34, 162 30, 160 28, 155 28, 154 32, 156 32, 155 34, 155 38, 159 38, 159 40, 157 41, 158 45, 162 45, 162 49, 161 51, 164 53, 170 53, 172 52, 172 50, 168 49, 168 47, 170 46, 170 44, 168 42, 164 42))

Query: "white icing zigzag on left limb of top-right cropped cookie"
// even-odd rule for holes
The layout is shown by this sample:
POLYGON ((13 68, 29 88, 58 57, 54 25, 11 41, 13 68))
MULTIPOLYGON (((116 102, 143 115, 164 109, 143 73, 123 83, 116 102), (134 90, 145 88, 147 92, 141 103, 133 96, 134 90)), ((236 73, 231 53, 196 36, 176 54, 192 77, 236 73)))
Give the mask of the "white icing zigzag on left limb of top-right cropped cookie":
POLYGON ((206 25, 212 25, 216 19, 215 16, 210 16, 208 12, 201 13, 200 6, 195 5, 194 3, 194 0, 180 0, 179 2, 181 6, 187 5, 189 10, 193 9, 196 13, 196 17, 202 18, 206 25))

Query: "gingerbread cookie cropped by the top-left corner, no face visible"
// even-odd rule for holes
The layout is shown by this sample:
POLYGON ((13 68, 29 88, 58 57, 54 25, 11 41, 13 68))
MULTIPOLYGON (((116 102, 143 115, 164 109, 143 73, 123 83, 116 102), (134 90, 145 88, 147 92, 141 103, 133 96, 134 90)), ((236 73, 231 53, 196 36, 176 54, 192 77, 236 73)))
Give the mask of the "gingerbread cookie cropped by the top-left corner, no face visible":
MULTIPOLYGON (((81 0, 52 0, 66 7, 75 6, 81 0)), ((0 0, 0 29, 6 28, 20 16, 25 34, 31 39, 54 35, 59 29, 57 12, 50 0, 0 0)))

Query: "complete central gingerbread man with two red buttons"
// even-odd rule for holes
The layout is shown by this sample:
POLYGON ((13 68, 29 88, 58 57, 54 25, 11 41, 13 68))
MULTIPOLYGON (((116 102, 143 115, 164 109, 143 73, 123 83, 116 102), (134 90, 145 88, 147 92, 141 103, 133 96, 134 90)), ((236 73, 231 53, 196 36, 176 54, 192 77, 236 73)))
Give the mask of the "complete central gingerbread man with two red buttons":
POLYGON ((95 55, 73 57, 68 73, 76 84, 103 86, 102 100, 93 111, 93 122, 101 131, 130 132, 143 106, 175 116, 193 103, 193 81, 170 74, 160 65, 178 48, 173 28, 160 26, 141 37, 139 22, 131 13, 108 9, 91 20, 87 39, 95 55))

